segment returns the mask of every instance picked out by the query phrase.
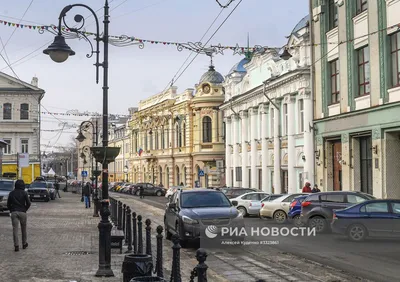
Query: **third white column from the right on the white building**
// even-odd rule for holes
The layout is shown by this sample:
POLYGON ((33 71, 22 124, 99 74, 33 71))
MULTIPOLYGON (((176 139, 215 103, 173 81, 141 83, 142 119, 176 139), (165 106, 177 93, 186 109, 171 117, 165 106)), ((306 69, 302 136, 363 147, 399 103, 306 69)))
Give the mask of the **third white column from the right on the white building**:
MULTIPOLYGON (((280 105, 275 102, 279 107, 280 105)), ((274 192, 282 193, 281 186, 281 141, 280 141, 280 110, 274 107, 274 192)))

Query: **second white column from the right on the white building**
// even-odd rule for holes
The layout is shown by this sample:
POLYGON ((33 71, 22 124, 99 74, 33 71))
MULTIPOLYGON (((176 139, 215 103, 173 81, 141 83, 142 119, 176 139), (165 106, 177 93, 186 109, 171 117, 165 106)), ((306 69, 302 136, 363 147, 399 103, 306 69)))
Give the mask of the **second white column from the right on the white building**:
POLYGON ((296 141, 295 134, 295 121, 296 116, 294 112, 295 99, 287 97, 286 99, 288 109, 288 193, 297 192, 297 177, 296 177, 296 141))

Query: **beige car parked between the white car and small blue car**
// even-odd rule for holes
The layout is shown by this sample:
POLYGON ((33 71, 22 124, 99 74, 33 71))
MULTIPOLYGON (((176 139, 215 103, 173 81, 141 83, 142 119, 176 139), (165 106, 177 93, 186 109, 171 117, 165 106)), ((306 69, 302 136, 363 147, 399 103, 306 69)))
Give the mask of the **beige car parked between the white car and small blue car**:
POLYGON ((285 194, 271 202, 264 203, 260 210, 260 217, 263 219, 272 218, 276 223, 285 223, 288 218, 290 203, 298 196, 305 193, 285 194))

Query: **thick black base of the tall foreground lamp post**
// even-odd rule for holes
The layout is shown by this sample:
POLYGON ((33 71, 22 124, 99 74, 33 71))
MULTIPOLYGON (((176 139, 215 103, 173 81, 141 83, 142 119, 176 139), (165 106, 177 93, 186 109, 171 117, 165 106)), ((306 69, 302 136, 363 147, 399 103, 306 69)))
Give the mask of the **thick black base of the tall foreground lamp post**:
POLYGON ((113 277, 114 272, 111 269, 111 229, 112 224, 109 221, 110 210, 108 201, 101 201, 99 228, 99 269, 96 277, 113 277))

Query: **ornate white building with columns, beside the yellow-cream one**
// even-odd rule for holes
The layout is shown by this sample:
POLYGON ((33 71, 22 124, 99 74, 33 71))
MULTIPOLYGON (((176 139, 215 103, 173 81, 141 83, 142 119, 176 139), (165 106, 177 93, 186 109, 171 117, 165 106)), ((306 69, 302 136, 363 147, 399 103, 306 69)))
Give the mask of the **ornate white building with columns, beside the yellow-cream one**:
POLYGON ((308 16, 282 50, 248 54, 225 79, 227 186, 298 192, 314 179, 308 16))

